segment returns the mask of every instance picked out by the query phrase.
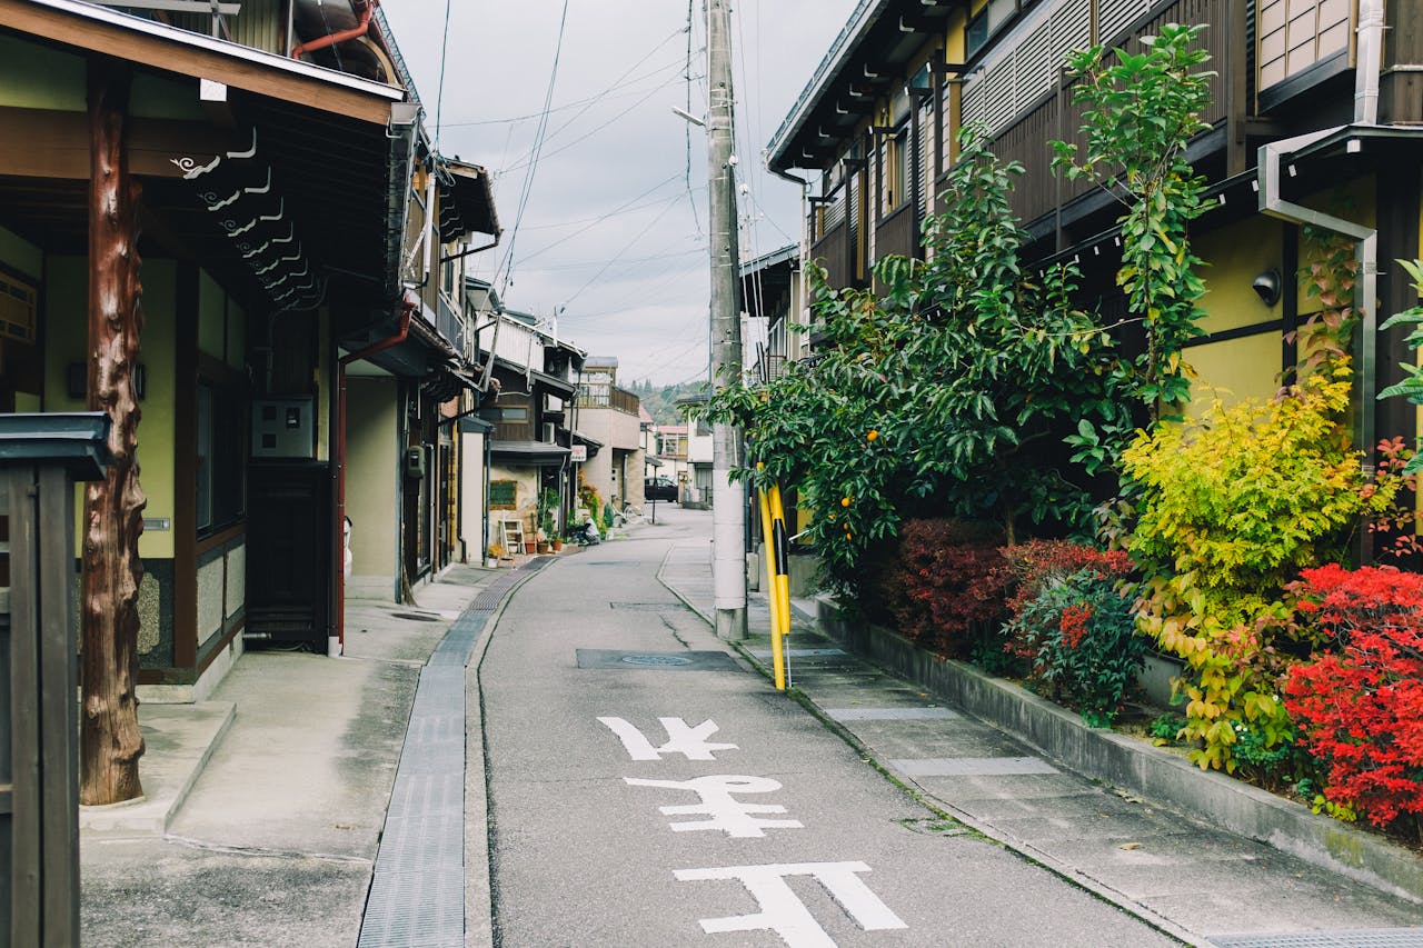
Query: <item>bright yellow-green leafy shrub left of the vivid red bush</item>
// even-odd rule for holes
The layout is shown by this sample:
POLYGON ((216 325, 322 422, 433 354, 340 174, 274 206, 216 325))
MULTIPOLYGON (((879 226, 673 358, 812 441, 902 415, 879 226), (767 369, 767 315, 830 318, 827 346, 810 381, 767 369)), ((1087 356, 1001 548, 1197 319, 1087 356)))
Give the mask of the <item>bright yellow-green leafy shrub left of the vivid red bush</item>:
POLYGON ((1356 518, 1397 494, 1396 478, 1365 483, 1340 424, 1349 389, 1342 363, 1272 401, 1161 424, 1123 455, 1140 490, 1127 551, 1151 576, 1137 628, 1187 662, 1183 736, 1202 742, 1201 767, 1235 769, 1238 726, 1262 750, 1289 739, 1284 588, 1342 554, 1356 518))

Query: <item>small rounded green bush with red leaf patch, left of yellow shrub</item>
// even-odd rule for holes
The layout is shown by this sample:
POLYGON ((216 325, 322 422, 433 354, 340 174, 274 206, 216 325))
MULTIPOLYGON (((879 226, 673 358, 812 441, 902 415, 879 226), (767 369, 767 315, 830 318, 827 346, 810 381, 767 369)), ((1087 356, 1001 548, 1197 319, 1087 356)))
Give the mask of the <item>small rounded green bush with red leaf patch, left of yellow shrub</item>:
POLYGON ((1047 585, 1005 629, 1029 659, 1027 685, 1106 727, 1136 679, 1147 642, 1117 582, 1081 569, 1047 585))

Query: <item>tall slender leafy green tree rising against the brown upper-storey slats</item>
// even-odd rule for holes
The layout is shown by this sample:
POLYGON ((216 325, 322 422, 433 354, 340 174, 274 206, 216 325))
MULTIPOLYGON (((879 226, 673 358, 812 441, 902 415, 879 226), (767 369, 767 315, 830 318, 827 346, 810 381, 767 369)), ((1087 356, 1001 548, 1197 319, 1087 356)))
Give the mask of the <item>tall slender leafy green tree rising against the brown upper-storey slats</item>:
POLYGON ((1164 24, 1143 37, 1143 53, 1100 46, 1073 53, 1069 73, 1079 81, 1073 101, 1086 105, 1086 151, 1052 142, 1053 168, 1069 179, 1090 178, 1126 205, 1117 285, 1133 319, 1146 327, 1146 350, 1123 384, 1153 410, 1190 396, 1181 346, 1201 335, 1197 300, 1205 285, 1201 259, 1191 252, 1187 225, 1205 211, 1205 179, 1185 159, 1191 137, 1210 128, 1210 78, 1198 71, 1208 54, 1198 37, 1205 27, 1164 24))

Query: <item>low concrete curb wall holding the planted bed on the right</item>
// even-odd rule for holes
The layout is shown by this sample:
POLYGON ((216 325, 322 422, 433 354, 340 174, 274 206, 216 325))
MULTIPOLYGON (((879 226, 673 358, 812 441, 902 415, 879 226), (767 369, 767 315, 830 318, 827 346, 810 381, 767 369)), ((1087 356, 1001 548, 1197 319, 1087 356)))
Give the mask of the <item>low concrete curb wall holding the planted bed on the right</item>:
POLYGON ((1423 860, 1399 846, 1150 744, 1087 727, 1077 715, 1012 682, 939 658, 889 629, 848 621, 828 596, 817 596, 817 611, 820 626, 848 649, 1081 774, 1168 803, 1187 816, 1390 895, 1423 902, 1423 860))

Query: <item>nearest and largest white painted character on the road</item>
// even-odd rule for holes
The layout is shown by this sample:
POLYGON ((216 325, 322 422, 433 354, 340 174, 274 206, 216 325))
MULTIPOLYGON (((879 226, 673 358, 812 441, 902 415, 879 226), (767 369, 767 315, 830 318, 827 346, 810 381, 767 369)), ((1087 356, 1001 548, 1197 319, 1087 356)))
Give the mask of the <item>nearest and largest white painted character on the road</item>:
POLYGON ((677 870, 682 883, 739 880, 761 911, 754 915, 700 920, 709 935, 731 931, 774 931, 790 948, 835 948, 805 904, 785 884, 787 875, 810 875, 840 902, 865 931, 908 928, 857 875, 868 873, 864 863, 785 863, 778 865, 730 865, 724 868, 677 870))

